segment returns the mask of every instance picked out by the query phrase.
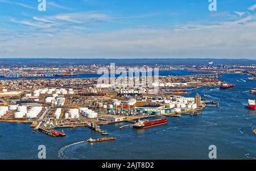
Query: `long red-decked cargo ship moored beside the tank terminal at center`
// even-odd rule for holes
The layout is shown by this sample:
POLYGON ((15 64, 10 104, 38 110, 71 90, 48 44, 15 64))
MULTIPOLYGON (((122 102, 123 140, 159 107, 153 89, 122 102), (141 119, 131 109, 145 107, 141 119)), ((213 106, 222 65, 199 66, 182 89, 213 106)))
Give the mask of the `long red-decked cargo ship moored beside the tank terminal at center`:
POLYGON ((134 128, 137 129, 145 129, 155 126, 160 126, 162 124, 166 124, 168 122, 167 118, 164 119, 155 119, 155 120, 139 120, 137 123, 133 125, 134 128))

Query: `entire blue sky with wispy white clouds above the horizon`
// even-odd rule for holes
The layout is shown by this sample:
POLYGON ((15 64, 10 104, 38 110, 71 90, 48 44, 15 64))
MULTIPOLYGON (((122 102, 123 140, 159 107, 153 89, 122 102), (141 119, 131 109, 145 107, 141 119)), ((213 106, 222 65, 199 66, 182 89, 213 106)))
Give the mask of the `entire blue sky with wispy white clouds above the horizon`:
POLYGON ((0 57, 256 59, 256 0, 0 0, 0 57))

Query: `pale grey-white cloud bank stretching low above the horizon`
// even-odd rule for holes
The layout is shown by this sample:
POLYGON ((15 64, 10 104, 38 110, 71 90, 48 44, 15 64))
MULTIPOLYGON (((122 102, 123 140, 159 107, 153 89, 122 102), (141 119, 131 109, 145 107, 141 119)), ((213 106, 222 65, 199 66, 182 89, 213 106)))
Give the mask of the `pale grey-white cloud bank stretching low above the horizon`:
MULTIPOLYGON (((92 34, 60 32, 0 42, 14 57, 226 57, 256 58, 256 22, 175 28, 137 27, 92 34), (243 23, 243 24, 240 24, 243 23), (26 38, 26 39, 25 39, 26 38), (39 42, 40 44, 35 44, 39 42)), ((8 52, 8 53, 7 53, 8 52)))

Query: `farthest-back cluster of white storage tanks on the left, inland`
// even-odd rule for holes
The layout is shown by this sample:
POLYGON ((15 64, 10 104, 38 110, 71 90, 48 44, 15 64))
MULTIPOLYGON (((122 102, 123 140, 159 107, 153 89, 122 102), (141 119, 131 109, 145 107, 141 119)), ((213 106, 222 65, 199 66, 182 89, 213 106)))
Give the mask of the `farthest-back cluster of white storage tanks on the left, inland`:
POLYGON ((74 91, 73 91, 73 89, 66 90, 66 89, 45 88, 45 89, 37 89, 33 92, 33 94, 35 97, 38 97, 40 94, 63 94, 63 95, 64 94, 74 94, 74 91))

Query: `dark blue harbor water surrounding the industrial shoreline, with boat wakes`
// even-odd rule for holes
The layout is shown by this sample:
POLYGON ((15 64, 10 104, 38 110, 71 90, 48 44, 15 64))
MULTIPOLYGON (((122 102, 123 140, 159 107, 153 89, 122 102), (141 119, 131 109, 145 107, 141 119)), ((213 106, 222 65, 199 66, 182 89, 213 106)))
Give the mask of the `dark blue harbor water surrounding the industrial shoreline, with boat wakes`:
POLYGON ((256 116, 246 107, 247 99, 256 99, 248 92, 256 84, 248 77, 224 74, 221 79, 236 84, 234 89, 192 91, 192 96, 199 93, 220 103, 220 108, 206 107, 203 115, 170 117, 168 124, 146 130, 118 129, 130 123, 101 126, 117 137, 113 141, 86 143, 89 137, 102 137, 87 127, 65 128, 67 136, 50 137, 32 133, 30 124, 0 122, 0 159, 38 159, 39 145, 46 146, 47 159, 209 159, 209 145, 216 145, 217 159, 256 159, 256 136, 251 132, 256 116))

